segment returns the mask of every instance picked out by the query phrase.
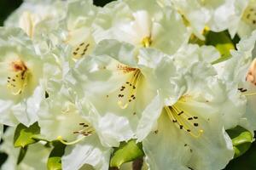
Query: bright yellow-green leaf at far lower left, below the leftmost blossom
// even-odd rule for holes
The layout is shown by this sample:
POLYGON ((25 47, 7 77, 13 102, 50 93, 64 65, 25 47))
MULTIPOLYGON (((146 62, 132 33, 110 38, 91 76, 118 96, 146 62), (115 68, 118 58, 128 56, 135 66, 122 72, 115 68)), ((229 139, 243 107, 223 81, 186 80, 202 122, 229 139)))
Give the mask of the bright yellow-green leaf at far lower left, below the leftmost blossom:
POLYGON ((40 127, 38 126, 38 122, 35 122, 30 127, 26 127, 25 125, 20 123, 15 129, 15 147, 24 148, 28 144, 34 144, 38 142, 38 140, 33 139, 33 136, 39 133, 40 127))

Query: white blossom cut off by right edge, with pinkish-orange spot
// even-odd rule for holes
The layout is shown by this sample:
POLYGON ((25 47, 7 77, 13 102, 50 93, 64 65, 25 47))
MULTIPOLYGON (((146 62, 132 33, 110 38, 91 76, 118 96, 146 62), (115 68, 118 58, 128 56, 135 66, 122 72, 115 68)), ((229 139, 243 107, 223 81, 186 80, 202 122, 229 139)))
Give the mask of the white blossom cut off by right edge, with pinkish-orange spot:
POLYGON ((230 86, 235 86, 241 96, 247 98, 246 114, 242 117, 240 125, 248 130, 255 129, 255 85, 254 85, 254 59, 255 53, 255 31, 250 37, 244 37, 236 46, 237 50, 232 51, 232 58, 225 61, 224 64, 218 66, 218 75, 230 86), (220 67, 220 69, 219 69, 220 67))

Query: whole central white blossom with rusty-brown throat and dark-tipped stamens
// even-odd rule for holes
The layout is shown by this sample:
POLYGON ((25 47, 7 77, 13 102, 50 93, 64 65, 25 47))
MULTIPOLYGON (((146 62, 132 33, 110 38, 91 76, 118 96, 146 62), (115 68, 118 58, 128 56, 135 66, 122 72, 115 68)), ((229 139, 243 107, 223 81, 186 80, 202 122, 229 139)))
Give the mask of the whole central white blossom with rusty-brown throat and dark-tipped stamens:
MULTIPOLYGON (((177 84, 173 81, 167 87, 169 84, 164 82, 167 76, 179 78, 172 59, 168 60, 165 54, 152 53, 155 55, 147 55, 142 49, 137 54, 137 48, 131 44, 102 41, 95 54, 81 59, 67 77, 79 99, 87 98, 94 105, 99 131, 108 134, 106 140, 113 146, 119 141, 136 138, 137 123, 142 115, 160 112, 160 95, 170 94, 166 103, 177 96, 177 84), (160 84, 163 84, 162 90, 158 91, 160 84)), ((153 124, 148 122, 146 126, 150 130, 153 124)))

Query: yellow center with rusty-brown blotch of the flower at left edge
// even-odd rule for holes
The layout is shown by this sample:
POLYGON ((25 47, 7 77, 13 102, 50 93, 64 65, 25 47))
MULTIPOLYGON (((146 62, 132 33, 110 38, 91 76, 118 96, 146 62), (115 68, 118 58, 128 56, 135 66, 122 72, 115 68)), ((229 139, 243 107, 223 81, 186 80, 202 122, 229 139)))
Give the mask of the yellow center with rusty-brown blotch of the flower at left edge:
POLYGON ((30 73, 23 61, 17 60, 10 64, 11 75, 7 77, 7 87, 12 94, 21 94, 26 88, 30 73))

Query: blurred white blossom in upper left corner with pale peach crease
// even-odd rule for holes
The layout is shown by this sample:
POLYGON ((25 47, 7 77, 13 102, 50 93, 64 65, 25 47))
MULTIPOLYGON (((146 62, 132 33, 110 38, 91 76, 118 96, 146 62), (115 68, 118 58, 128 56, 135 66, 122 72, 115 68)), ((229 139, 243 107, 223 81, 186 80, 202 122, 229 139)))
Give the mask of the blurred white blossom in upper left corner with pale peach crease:
POLYGON ((20 8, 5 21, 5 26, 18 26, 29 37, 40 31, 48 31, 65 14, 65 4, 61 1, 26 0, 20 8))

